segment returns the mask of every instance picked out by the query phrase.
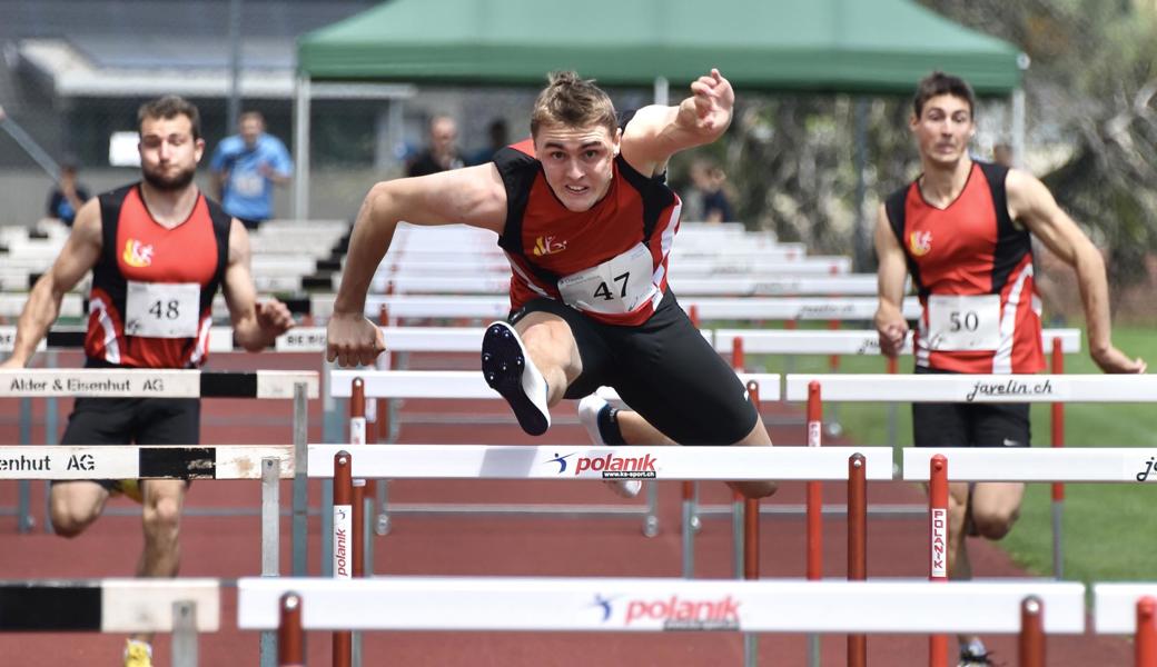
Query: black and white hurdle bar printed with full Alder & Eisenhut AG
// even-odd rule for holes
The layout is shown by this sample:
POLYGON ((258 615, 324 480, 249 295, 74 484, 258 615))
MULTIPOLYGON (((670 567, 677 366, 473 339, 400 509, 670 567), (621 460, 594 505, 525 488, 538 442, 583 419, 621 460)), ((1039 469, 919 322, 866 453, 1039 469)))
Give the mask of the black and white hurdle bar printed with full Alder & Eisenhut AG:
POLYGON ((156 369, 12 369, 0 370, 0 398, 12 397, 148 397, 292 399, 305 385, 318 398, 314 371, 209 372, 156 369))

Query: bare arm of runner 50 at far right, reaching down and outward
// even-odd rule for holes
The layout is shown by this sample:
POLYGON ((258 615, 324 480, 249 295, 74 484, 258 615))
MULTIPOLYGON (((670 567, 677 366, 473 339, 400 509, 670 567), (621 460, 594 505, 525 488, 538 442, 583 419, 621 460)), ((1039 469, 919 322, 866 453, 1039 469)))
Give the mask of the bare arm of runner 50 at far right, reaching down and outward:
POLYGON ((1129 358, 1113 347, 1108 281, 1105 277, 1105 261, 1097 247, 1073 218, 1061 210, 1045 184, 1032 175, 1010 170, 1004 186, 1012 220, 1025 224, 1048 250, 1076 270, 1092 360, 1107 373, 1144 372, 1144 361, 1129 358))

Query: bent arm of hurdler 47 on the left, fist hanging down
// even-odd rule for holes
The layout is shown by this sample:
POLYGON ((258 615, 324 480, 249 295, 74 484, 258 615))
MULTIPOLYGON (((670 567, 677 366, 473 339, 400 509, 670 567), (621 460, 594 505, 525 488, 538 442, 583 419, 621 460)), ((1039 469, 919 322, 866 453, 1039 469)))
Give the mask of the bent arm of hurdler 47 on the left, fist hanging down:
POLYGON ((386 180, 370 188, 349 237, 326 328, 325 358, 352 366, 371 363, 385 350, 381 329, 366 319, 366 292, 399 222, 465 223, 501 234, 506 205, 506 187, 494 164, 386 180))

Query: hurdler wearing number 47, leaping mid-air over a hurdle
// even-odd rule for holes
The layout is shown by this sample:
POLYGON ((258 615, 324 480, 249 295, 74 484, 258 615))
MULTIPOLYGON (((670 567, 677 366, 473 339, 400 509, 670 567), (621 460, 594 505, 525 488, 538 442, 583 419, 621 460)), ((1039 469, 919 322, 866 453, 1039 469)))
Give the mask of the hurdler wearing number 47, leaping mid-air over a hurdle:
MULTIPOLYGON (((734 104, 713 69, 678 105, 620 119, 594 82, 552 74, 530 139, 494 162, 374 186, 351 237, 327 358, 370 363, 385 349, 363 310, 398 221, 466 223, 498 234, 510 260, 510 317, 487 327, 481 365, 528 433, 545 432, 562 399, 588 397, 578 413, 597 444, 771 445, 743 384, 666 284, 680 209, 668 160, 722 135, 734 104), (631 409, 590 397, 603 385, 631 409)), ((775 489, 734 486, 750 497, 775 489)))

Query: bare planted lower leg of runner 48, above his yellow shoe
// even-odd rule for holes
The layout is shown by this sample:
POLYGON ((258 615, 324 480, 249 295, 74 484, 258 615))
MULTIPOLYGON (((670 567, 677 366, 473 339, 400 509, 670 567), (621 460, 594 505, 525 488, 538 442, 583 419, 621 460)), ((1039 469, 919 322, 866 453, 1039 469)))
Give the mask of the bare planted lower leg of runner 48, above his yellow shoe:
MULTIPOLYGON (((145 550, 137 564, 138 577, 176 577, 180 566, 180 510, 186 484, 182 480, 148 480, 141 523, 145 550)), ((152 643, 152 635, 133 639, 152 643)))

